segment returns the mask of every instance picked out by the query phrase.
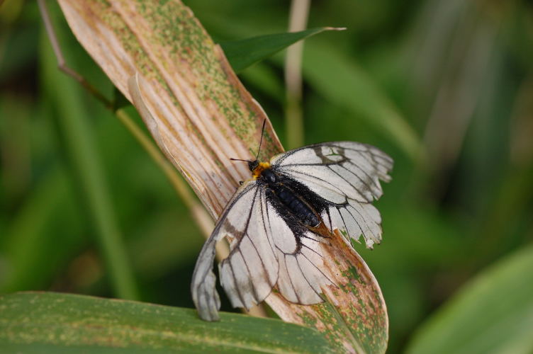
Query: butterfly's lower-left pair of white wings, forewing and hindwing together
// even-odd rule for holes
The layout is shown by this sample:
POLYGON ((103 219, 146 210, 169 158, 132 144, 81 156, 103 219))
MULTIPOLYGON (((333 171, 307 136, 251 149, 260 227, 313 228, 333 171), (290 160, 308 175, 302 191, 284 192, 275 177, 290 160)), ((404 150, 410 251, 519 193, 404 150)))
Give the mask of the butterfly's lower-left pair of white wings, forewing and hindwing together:
POLYGON ((230 236, 230 254, 219 265, 220 283, 234 307, 249 309, 278 285, 281 295, 298 304, 322 302, 321 286, 332 282, 320 271, 322 238, 291 216, 278 212, 267 185, 249 181, 228 203, 198 256, 191 292, 202 319, 218 319, 215 243, 230 236))

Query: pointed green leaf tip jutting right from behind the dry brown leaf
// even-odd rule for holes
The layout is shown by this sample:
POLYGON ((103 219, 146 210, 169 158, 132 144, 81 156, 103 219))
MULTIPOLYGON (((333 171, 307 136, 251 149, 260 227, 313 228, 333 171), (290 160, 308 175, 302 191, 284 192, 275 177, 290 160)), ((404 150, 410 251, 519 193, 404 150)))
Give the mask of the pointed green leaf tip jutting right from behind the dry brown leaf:
POLYGON ((285 49, 289 45, 298 42, 298 40, 303 40, 325 30, 344 30, 344 28, 320 27, 300 32, 259 35, 245 40, 222 42, 220 47, 224 50, 233 70, 239 74, 250 65, 285 49))

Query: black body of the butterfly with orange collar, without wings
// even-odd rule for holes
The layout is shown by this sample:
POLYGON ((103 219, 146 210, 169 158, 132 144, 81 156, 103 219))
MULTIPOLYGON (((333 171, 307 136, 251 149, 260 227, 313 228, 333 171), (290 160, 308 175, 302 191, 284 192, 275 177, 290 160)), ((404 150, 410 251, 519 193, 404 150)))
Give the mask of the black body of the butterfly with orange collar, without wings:
POLYGON ((313 208, 305 201, 301 195, 298 195, 291 187, 286 178, 279 176, 274 172, 267 163, 260 163, 257 169, 254 169, 254 178, 261 179, 268 185, 269 195, 281 202, 288 212, 291 212, 300 222, 308 227, 318 227, 320 219, 317 217, 313 208), (262 166, 263 164, 263 166, 262 166), (261 169, 260 172, 256 172, 261 169), (257 173, 258 177, 255 177, 257 173))

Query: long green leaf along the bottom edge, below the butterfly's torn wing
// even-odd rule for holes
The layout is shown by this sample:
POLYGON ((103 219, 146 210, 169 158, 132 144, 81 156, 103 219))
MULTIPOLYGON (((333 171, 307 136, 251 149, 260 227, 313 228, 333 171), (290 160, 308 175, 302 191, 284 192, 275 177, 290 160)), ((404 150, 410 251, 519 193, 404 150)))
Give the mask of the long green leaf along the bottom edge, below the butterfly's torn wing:
POLYGON ((314 329, 241 314, 53 292, 0 297, 0 352, 330 353, 314 329))

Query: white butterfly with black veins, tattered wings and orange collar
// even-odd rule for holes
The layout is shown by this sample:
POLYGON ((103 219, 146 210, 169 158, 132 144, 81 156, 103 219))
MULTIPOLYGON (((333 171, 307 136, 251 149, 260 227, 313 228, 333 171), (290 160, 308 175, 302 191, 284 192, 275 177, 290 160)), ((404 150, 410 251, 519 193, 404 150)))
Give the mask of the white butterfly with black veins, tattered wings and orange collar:
MULTIPOLYGON (((259 149, 262 144, 264 122, 259 149)), ((391 181, 390 156, 359 142, 325 142, 245 161, 252 178, 242 182, 203 245, 191 282, 201 319, 219 319, 215 244, 224 236, 230 253, 219 264, 220 284, 233 307, 249 309, 277 285, 289 302, 322 302, 321 287, 335 285, 320 269, 321 244, 335 229, 366 247, 381 242, 381 215, 374 200, 381 181, 391 181)))

